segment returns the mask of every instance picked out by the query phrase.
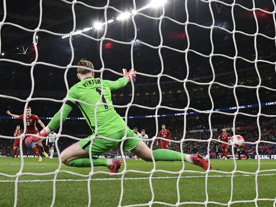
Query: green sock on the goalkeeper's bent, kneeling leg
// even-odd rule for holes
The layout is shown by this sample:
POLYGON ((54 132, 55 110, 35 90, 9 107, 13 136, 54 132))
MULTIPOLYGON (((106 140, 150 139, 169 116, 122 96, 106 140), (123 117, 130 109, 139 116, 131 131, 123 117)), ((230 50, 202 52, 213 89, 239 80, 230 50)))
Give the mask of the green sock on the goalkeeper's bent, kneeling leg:
MULTIPOLYGON (((107 167, 107 159, 92 157, 93 166, 104 166, 107 167)), ((70 167, 91 167, 91 162, 89 158, 80 158, 72 160, 68 163, 70 167)))

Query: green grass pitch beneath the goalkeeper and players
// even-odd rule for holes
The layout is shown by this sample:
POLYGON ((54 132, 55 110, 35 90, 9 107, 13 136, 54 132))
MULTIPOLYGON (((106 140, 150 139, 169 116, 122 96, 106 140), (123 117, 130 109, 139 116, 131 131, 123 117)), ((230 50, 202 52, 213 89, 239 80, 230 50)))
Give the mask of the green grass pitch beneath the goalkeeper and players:
MULTIPOLYGON (((231 172, 234 170, 233 160, 211 159, 213 170, 231 172)), ((258 175, 258 200, 259 207, 273 206, 276 197, 276 160, 260 160, 260 170, 272 170, 262 172, 258 175), (275 171, 273 171, 273 169, 275 171)), ((256 172, 258 160, 237 160, 237 170, 245 172, 256 172)), ((124 163, 125 165, 125 163, 124 163)), ((21 166, 20 158, 0 158, 0 173, 16 175, 21 166)), ((143 160, 126 159, 127 170, 139 170, 150 172, 154 164, 143 160)), ((23 173, 50 173, 59 167, 58 158, 43 158, 38 162, 37 158, 24 158, 23 173)), ((183 167, 182 162, 156 162, 156 170, 167 170, 178 172, 183 167)), ((61 165, 60 170, 68 170, 82 175, 89 175, 90 168, 73 168, 61 165)), ((185 170, 204 170, 198 166, 185 163, 185 170)), ((121 194, 122 175, 110 176, 97 171, 109 172, 105 167, 95 167, 95 174, 91 177, 91 206, 118 206, 121 194)), ((122 172, 122 169, 120 170, 122 172)), ((22 175, 18 179, 17 206, 51 206, 53 198, 52 175, 22 175)), ((154 192, 153 207, 175 206, 177 203, 177 177, 178 173, 155 172, 152 175, 152 186, 154 192), (162 204, 163 202, 165 204, 162 204)), ((149 182, 150 174, 127 172, 123 179, 122 206, 148 204, 152 200, 152 192, 149 182)), ((0 175, 0 206, 14 206, 15 177, 0 175)), ((67 172, 57 174, 56 194, 54 206, 87 206, 88 205, 88 177, 72 175, 67 172)), ((256 198, 255 175, 235 173, 233 177, 233 199, 234 201, 251 200, 249 203, 237 202, 231 207, 246 206, 255 207, 252 200, 256 198)), ((186 204, 185 202, 204 202, 205 174, 184 172, 179 180, 180 204, 179 206, 205 206, 204 204, 186 204)), ((207 179, 207 192, 209 207, 227 206, 231 197, 231 174, 210 172, 207 179), (219 205, 220 202, 225 205, 219 205)), ((275 204, 274 204, 275 205, 275 204)), ((145 205, 148 206, 148 205, 145 205)))

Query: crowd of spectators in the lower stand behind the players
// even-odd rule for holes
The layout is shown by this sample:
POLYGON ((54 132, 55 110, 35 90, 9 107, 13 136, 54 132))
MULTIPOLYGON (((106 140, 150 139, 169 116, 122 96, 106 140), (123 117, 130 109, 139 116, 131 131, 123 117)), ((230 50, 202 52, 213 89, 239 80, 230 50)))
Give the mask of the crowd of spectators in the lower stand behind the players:
MULTIPOLYGON (((200 120, 206 120, 208 116, 202 117, 200 118, 200 120)), ((253 119, 251 119, 253 120, 253 119)), ((82 120, 83 121, 83 120, 82 120)), ((161 120, 160 120, 161 121, 161 120)), ((171 137, 172 137, 172 142, 170 145, 170 149, 174 150, 174 151, 178 151, 180 152, 181 150, 181 146, 183 149, 183 152, 186 154, 193 154, 193 153, 206 153, 208 151, 208 139, 210 138, 211 134, 210 131, 208 131, 208 128, 205 128, 205 130, 202 131, 198 131, 198 130, 203 130, 203 126, 200 125, 198 127, 198 129, 196 129, 195 132, 190 132, 190 131, 186 131, 185 133, 185 139, 184 141, 181 143, 181 140, 183 139, 184 136, 184 131, 183 131, 183 119, 181 118, 175 118, 175 119, 164 119, 162 120, 164 121, 164 123, 166 123, 166 128, 170 130, 171 133, 171 137), (187 139, 195 139, 193 141, 185 141, 187 139), (196 140, 205 140, 205 141, 196 141, 196 140), (174 142, 177 141, 177 142, 174 142)), ((204 122, 203 121, 203 122, 204 122)), ((259 129, 255 128, 256 126, 256 122, 251 122, 249 123, 250 119, 248 120, 244 120, 244 121, 238 121, 236 122, 236 127, 242 127, 242 126, 248 126, 248 128, 246 129, 239 129, 238 131, 240 133, 241 136, 243 136, 245 138, 245 140, 247 142, 256 142, 259 139, 259 129), (249 127, 251 126, 251 127, 249 127)), ((84 123, 81 124, 81 122, 72 122, 70 120, 68 120, 67 122, 70 122, 70 124, 65 124, 63 126, 63 130, 62 130, 62 134, 66 134, 66 135, 71 135, 73 137, 78 137, 78 138, 85 138, 89 135, 89 130, 87 130, 87 134, 76 134, 77 129, 81 129, 83 125, 85 125, 84 123), (70 129, 74 129, 72 131, 70 131, 70 129)), ((201 124, 201 122, 199 121, 198 123, 201 124)), ((226 123, 226 122, 224 122, 226 123)), ((216 145, 219 145, 220 143, 218 143, 217 138, 220 135, 220 133, 222 132, 222 128, 226 127, 226 128, 230 128, 231 127, 231 122, 227 122, 228 124, 225 125, 220 125, 218 128, 214 128, 212 131, 212 139, 215 139, 213 141, 211 141, 210 143, 210 147, 209 150, 213 150, 214 147, 216 147, 216 145)), ((138 120, 136 121, 130 121, 129 124, 131 125, 130 127, 138 127, 138 131, 140 131, 142 128, 146 127, 146 134, 149 136, 149 138, 154 138, 156 137, 156 126, 155 124, 150 125, 150 121, 145 120, 145 122, 143 123, 143 125, 141 124, 141 122, 139 122, 138 120)), ((13 124, 14 125, 14 124, 13 124)), ((12 125, 12 126, 13 126, 12 125)), ((11 124, 7 124, 7 128, 6 129, 1 129, 1 135, 5 135, 5 136, 12 136, 14 129, 12 127, 8 127, 11 126, 11 124)), ((260 141, 270 141, 270 142, 275 142, 276 138, 275 138, 275 123, 274 120, 266 120, 266 119, 262 119, 260 120, 260 130, 261 130, 261 137, 260 137, 260 141)), ((158 127, 158 131, 161 128, 158 127)), ((78 130, 81 131, 81 130, 78 130)), ((231 134, 232 132, 230 132, 231 134)), ((60 152, 62 150, 64 150, 66 147, 70 146, 71 144, 77 142, 77 140, 75 139, 70 139, 67 137, 60 137, 60 139, 58 140, 58 148, 60 150, 60 152)), ((276 142, 275 142, 276 143, 276 142)), ((24 143, 22 143, 24 145, 24 143)), ((45 141, 43 141, 43 144, 45 144, 45 141)), ((149 141, 149 147, 151 147, 152 145, 152 149, 156 150, 159 149, 160 146, 156 146, 156 140, 154 139, 154 141, 149 141)), ((0 138, 0 154, 11 154, 12 153, 12 146, 13 146, 13 139, 5 139, 5 138, 0 138)), ((256 150, 254 149, 254 145, 249 145, 250 147, 246 147, 246 150, 250 150, 250 152, 252 153, 256 153, 256 150)), ((271 144, 267 144, 265 142, 261 142, 259 144, 259 146, 262 146, 261 150, 262 153, 273 153, 274 148, 271 148, 271 144)), ((48 152, 48 147, 45 147, 45 151, 48 152)), ((56 150, 55 150, 56 151, 56 150)), ((229 148, 229 152, 231 152, 231 148, 229 148)), ((124 154, 132 154, 131 152, 123 152, 124 154)), ((32 150, 30 149, 26 149, 26 154, 27 155, 31 155, 32 154, 32 150)), ((110 151, 106 152, 105 154, 121 154, 120 149, 114 148, 111 149, 110 151)))

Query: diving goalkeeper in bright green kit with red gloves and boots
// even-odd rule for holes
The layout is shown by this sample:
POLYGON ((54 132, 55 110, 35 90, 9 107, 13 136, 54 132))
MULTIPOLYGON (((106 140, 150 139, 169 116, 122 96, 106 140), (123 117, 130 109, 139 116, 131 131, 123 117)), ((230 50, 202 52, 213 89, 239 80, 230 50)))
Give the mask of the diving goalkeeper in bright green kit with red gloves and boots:
MULTIPOLYGON (((89 159, 91 141, 89 138, 95 136, 91 146, 93 166, 106 166, 112 175, 114 175, 113 173, 118 173, 118 170, 121 168, 122 161, 119 159, 97 158, 95 156, 100 156, 114 147, 120 148, 121 141, 117 140, 124 137, 125 130, 127 130, 127 137, 139 138, 129 127, 125 129, 125 122, 114 110, 111 100, 111 91, 124 87, 131 79, 135 81, 136 71, 131 69, 127 72, 126 69, 123 69, 124 77, 119 78, 117 81, 108 81, 94 78, 94 67, 91 62, 81 60, 78 62, 78 66, 87 67, 92 70, 83 67, 77 68, 77 76, 80 82, 70 88, 68 101, 64 105, 63 113, 61 108, 39 135, 47 137, 51 131, 60 126, 61 113, 62 121, 64 121, 71 112, 72 107, 77 105, 91 129, 91 135, 86 138, 88 140, 78 141, 66 148, 61 153, 61 161, 68 166, 91 167, 89 159), (95 105, 99 102, 108 105, 100 104, 96 107, 95 105)), ((183 157, 186 162, 198 165, 205 170, 208 169, 208 160, 199 154, 187 155, 165 149, 152 151, 140 139, 125 139, 122 147, 124 151, 131 151, 145 161, 152 162, 152 153, 155 161, 182 161, 183 157)), ((212 169, 211 165, 210 169, 212 169)))

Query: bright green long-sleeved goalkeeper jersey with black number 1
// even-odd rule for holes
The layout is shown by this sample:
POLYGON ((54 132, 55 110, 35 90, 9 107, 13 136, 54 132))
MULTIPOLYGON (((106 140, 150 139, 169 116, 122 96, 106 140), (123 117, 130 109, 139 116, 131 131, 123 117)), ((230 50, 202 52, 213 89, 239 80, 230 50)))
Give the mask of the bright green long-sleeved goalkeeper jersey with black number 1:
MULTIPOLYGON (((68 99, 70 101, 66 102, 64 105, 62 120, 64 121, 66 119, 72 110, 72 105, 76 104, 81 110, 93 135, 96 133, 97 136, 107 137, 108 135, 125 129, 125 122, 120 115, 117 114, 114 107, 103 105, 102 103, 112 104, 111 91, 116 91, 127 85, 127 83, 127 79, 123 77, 119 78, 117 81, 101 80, 100 78, 86 78, 75 84, 69 90, 68 99), (101 88, 101 83, 103 84, 103 88, 101 88), (100 97, 101 92, 103 94, 102 97, 100 97), (95 105, 98 102, 100 105, 97 107, 87 105, 95 105)), ((48 124, 52 130, 60 125, 60 113, 61 109, 48 124)))

